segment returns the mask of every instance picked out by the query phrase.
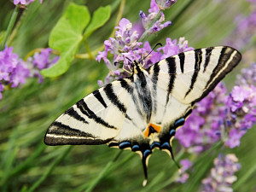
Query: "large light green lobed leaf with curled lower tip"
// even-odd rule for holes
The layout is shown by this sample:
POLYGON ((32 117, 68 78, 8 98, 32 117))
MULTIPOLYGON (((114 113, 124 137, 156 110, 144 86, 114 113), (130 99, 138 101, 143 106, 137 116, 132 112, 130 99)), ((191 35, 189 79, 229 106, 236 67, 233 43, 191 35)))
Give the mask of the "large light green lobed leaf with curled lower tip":
POLYGON ((74 55, 83 39, 82 32, 90 21, 90 13, 85 6, 70 3, 61 19, 49 35, 49 47, 61 52, 54 66, 41 71, 45 77, 57 77, 70 67, 74 55))

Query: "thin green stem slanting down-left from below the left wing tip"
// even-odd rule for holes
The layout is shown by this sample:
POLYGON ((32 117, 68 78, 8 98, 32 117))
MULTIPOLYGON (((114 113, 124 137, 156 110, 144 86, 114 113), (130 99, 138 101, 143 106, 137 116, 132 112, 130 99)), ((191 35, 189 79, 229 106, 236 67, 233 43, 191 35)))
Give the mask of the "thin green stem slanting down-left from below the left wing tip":
POLYGON ((63 154, 62 154, 59 158, 57 158, 57 159, 51 164, 51 166, 49 166, 49 169, 48 169, 46 172, 44 172, 44 175, 43 175, 42 177, 40 177, 40 178, 38 179, 38 181, 37 181, 36 183, 34 183, 30 189, 27 190, 27 192, 32 192, 32 191, 34 191, 35 189, 37 189, 38 186, 39 186, 41 183, 43 183, 44 180, 49 176, 49 174, 54 170, 55 166, 57 166, 57 165, 61 162, 61 160, 63 160, 63 159, 67 156, 67 154, 69 153, 69 151, 71 150, 72 147, 73 147, 72 145, 68 146, 68 147, 66 148, 66 150, 63 152, 63 154))

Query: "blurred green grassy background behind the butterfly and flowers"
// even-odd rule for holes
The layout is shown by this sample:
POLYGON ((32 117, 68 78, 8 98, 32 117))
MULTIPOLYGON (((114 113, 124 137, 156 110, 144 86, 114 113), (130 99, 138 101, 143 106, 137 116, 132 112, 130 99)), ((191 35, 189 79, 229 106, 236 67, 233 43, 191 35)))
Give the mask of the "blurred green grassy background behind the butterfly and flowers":
MULTIPOLYGON (((32 49, 48 47, 49 32, 71 2, 88 6, 90 13, 100 6, 112 6, 110 20, 88 39, 90 49, 102 46, 113 31, 120 1, 44 0, 40 4, 36 0, 26 10, 20 10, 20 15, 22 11, 25 13, 16 23, 20 27, 10 38, 9 46, 13 46, 21 58, 32 49)), ((140 10, 148 13, 149 4, 149 0, 126 1, 123 17, 135 23, 140 10)), ((6 30, 14 7, 9 1, 0 2, 0 31, 6 30)), ((194 48, 224 44, 234 30, 236 15, 247 15, 249 11, 246 1, 177 0, 165 11, 166 20, 172 20, 172 26, 147 40, 154 45, 165 44, 166 38, 185 37, 194 48)), ((83 47, 79 50, 84 51, 83 47)), ((240 68, 249 64, 241 61, 240 68)), ((235 84, 240 68, 225 79, 230 87, 235 84)), ((68 72, 59 78, 44 79, 43 84, 31 79, 22 88, 3 93, 0 100, 1 191, 84 191, 95 181, 119 149, 105 145, 49 147, 44 145, 44 134, 68 107, 97 89, 96 80, 105 79, 107 73, 103 63, 75 59, 68 72)), ((241 171, 236 173, 238 181, 233 185, 235 191, 256 191, 255 137, 256 130, 249 130, 239 148, 224 149, 224 153, 235 153, 241 163, 241 171)), ((175 154, 178 154, 178 145, 174 141, 175 154)), ((177 160, 185 157, 188 154, 178 155, 177 160)), ((201 162, 197 164, 200 166, 195 167, 187 183, 172 183, 177 167, 166 153, 155 150, 149 160, 148 185, 143 188, 139 156, 124 151, 94 191, 200 191, 201 179, 209 174, 212 161, 196 155, 190 159, 201 162), (201 166, 206 166, 208 171, 198 176, 201 166)))

